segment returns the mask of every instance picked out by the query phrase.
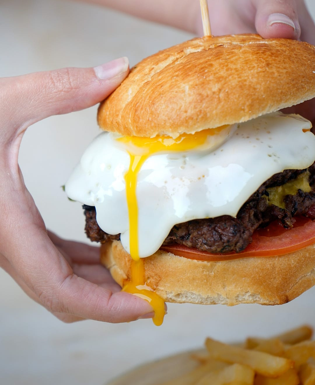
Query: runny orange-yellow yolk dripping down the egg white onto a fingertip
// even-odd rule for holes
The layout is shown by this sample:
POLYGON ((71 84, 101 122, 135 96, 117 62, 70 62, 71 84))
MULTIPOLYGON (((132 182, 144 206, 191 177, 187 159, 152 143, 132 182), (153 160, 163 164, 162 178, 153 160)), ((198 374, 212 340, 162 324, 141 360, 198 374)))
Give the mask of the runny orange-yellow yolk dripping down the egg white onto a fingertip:
POLYGON ((199 131, 195 134, 183 134, 176 139, 168 136, 117 138, 117 141, 121 142, 130 156, 130 164, 125 174, 125 181, 129 215, 129 246, 133 261, 131 264, 131 278, 122 290, 140 296, 150 303, 155 312, 153 317, 155 325, 162 324, 165 310, 162 298, 146 285, 144 263, 139 257, 138 203, 136 196, 139 171, 146 159, 157 153, 202 151, 211 147, 217 147, 230 134, 230 127, 221 126, 216 129, 199 131))

